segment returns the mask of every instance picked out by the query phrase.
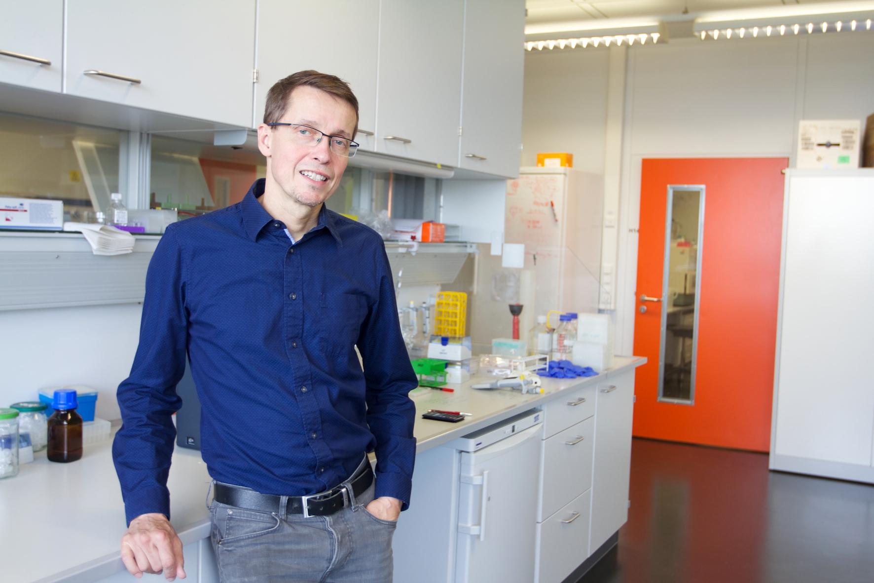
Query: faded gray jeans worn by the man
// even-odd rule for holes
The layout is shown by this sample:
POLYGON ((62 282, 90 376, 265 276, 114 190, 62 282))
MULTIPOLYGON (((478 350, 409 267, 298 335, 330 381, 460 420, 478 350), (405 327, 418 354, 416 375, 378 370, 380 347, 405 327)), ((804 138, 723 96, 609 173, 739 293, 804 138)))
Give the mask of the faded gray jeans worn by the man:
POLYGON ((396 523, 364 509, 375 482, 331 516, 256 512, 212 502, 222 583, 391 583, 396 523))

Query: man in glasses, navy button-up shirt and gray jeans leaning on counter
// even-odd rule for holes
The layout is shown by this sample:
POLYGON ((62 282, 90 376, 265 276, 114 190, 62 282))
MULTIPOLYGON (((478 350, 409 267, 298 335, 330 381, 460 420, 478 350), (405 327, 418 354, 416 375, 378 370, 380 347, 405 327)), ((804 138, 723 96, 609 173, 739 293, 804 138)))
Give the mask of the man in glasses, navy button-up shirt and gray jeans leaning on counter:
POLYGON ((166 481, 188 355, 222 580, 392 579, 416 376, 382 239, 323 204, 355 153, 357 121, 335 76, 278 81, 258 128, 266 179, 158 244, 113 446, 129 523, 121 558, 137 577, 185 576, 166 481))

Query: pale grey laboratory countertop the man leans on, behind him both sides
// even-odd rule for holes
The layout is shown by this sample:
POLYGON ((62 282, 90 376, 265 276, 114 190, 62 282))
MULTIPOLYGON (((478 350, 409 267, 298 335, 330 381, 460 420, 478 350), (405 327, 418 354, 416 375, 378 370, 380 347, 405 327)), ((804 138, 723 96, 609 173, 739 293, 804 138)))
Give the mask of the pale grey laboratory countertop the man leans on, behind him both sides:
MULTIPOLYGON (((440 446, 461 435, 493 425, 532 407, 621 375, 646 362, 617 356, 614 367, 599 376, 543 379, 544 392, 522 395, 519 390, 474 390, 470 385, 447 385, 454 392, 420 388, 410 397, 416 404, 413 429, 417 450, 440 446), (428 409, 472 413, 461 423, 421 418, 428 409)), ((48 461, 45 451, 34 454, 20 473, 0 481, 0 549, 3 581, 8 583, 85 583, 124 569, 119 544, 126 530, 124 502, 112 460, 112 439, 85 446, 81 460, 70 464, 48 461)), ((183 544, 210 535, 206 496, 211 479, 196 450, 177 448, 170 467, 170 522, 183 544)))

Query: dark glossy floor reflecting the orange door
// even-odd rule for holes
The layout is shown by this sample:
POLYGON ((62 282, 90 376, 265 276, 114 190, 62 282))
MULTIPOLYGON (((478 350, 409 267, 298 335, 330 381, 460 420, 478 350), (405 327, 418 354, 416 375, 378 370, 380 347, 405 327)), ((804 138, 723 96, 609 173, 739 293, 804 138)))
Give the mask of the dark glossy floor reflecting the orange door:
POLYGON ((874 486, 635 439, 619 545, 579 583, 874 582, 874 486))

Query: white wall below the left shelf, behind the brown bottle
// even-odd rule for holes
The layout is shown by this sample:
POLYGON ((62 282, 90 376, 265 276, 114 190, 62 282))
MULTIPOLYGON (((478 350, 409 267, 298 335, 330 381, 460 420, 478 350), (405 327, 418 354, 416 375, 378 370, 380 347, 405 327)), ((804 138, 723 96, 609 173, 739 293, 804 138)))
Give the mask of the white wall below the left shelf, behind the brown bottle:
POLYGON ((115 390, 134 362, 141 314, 140 304, 0 312, 0 406, 85 384, 99 393, 97 417, 120 418, 115 390))

